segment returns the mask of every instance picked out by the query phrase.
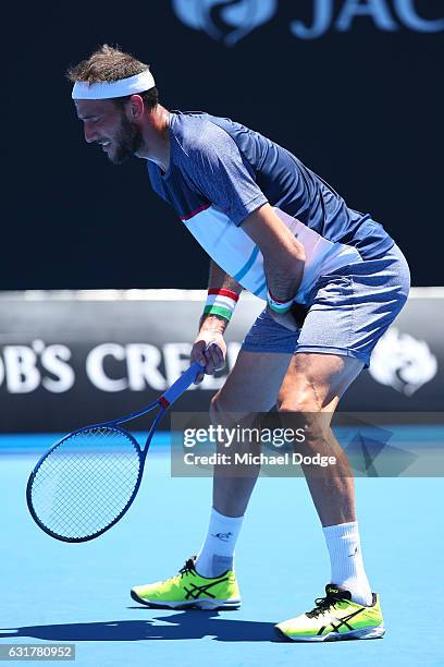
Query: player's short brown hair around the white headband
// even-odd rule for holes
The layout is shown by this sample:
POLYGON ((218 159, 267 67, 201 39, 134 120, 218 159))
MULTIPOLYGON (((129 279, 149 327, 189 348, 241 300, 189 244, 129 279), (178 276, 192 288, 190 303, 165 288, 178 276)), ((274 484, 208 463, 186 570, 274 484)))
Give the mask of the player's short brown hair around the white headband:
MULTIPOLYGON (((110 83, 128 76, 135 76, 149 70, 149 65, 140 62, 131 53, 124 53, 116 47, 103 44, 97 51, 94 51, 87 60, 67 70, 67 78, 72 83, 84 82, 88 84, 110 83)), ((150 88, 139 94, 145 106, 153 109, 159 102, 159 90, 157 87, 150 88)), ((118 106, 122 106, 130 99, 126 97, 115 97, 112 99, 118 106)))

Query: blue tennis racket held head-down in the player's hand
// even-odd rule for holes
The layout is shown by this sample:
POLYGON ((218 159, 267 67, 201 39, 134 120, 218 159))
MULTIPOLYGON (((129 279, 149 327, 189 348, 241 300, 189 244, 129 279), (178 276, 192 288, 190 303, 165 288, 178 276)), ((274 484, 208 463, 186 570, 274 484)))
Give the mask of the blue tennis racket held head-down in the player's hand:
POLYGON ((55 442, 38 461, 26 487, 27 506, 37 525, 62 542, 87 542, 120 521, 140 487, 160 420, 202 369, 194 362, 147 408, 112 422, 84 426, 55 442), (140 449, 121 424, 156 409, 159 411, 140 449))

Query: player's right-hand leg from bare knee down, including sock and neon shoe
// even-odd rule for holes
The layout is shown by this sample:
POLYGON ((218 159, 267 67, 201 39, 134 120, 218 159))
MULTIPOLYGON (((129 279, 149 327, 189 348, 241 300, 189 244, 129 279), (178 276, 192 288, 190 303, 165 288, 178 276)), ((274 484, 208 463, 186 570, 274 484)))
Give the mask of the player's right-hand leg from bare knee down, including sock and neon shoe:
POLYGON ((303 465, 323 526, 332 583, 312 613, 276 627, 294 641, 324 641, 340 635, 370 639, 384 633, 379 599, 363 568, 351 469, 330 426, 341 397, 362 367, 362 361, 349 356, 297 353, 281 387, 280 411, 295 427, 305 427, 306 437, 297 451, 336 459, 334 465, 325 468, 303 465))

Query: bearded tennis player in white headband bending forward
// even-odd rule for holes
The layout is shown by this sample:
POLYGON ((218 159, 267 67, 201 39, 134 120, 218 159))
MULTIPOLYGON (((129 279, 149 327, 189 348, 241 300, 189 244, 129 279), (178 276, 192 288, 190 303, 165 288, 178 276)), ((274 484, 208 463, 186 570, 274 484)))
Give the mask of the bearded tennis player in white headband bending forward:
MULTIPOLYGON (((285 148, 230 119, 166 110, 149 66, 132 56, 104 45, 69 77, 85 140, 114 163, 145 159, 152 189, 211 257, 193 360, 213 374, 224 363, 223 335, 240 291, 264 302, 212 400, 214 419, 229 423, 231 413, 267 412, 278 403, 283 414, 305 416, 305 452, 336 458, 335 466, 317 474, 305 469, 331 583, 311 611, 279 623, 278 631, 294 641, 382 636, 380 599, 362 561, 353 474, 330 421, 407 300, 405 257, 381 225, 349 208, 285 148)), ((240 604, 233 555, 258 472, 226 476, 215 469, 197 557, 171 579, 135 586, 135 599, 171 608, 240 604)))

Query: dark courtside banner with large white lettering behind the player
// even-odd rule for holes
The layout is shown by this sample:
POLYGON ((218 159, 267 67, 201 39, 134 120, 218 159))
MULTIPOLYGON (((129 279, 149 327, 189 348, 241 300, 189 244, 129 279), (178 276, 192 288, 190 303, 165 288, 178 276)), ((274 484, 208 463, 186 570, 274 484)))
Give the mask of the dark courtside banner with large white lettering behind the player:
MULTIPOLYGON (((441 292, 414 290, 377 345, 370 369, 342 400, 342 410, 443 411, 441 292)), ((1 296, 0 432, 65 430, 114 419, 166 389, 188 365, 203 293, 155 296, 149 292, 1 296)), ((192 387, 177 410, 208 409, 261 307, 259 300, 242 296, 227 330, 225 371, 192 387)), ((139 427, 144 429, 143 421, 139 427)))

